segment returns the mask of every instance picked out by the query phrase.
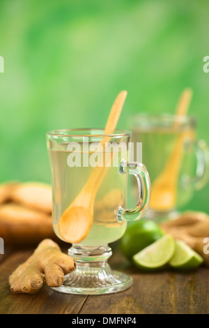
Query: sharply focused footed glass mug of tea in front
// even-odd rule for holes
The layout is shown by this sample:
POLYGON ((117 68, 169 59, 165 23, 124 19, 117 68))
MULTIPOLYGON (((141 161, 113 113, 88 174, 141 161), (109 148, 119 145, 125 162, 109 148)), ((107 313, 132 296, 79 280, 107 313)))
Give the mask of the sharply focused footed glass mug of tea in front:
POLYGON ((57 130, 47 133, 47 149, 52 172, 53 227, 56 235, 64 241, 66 240, 59 230, 63 212, 83 190, 95 170, 91 157, 96 154, 103 158, 105 152, 106 158, 107 149, 103 147, 102 152, 100 149, 95 153, 91 150, 92 146, 100 145, 102 142, 104 144, 105 140, 114 144, 114 148, 109 151, 111 161, 109 164, 106 163, 109 166, 107 170, 104 167, 104 159, 102 165, 98 160, 101 165, 98 170, 101 170, 101 174, 104 169, 106 172, 95 193, 93 222, 87 236, 72 244, 68 250, 68 255, 75 259, 77 269, 65 276, 61 287, 54 288, 59 292, 104 294, 125 290, 132 284, 130 276, 112 271, 107 264, 111 256, 108 244, 122 237, 127 221, 138 220, 146 214, 150 201, 150 179, 146 167, 141 163, 128 161, 130 137, 130 131, 117 130, 112 135, 104 135, 102 129, 57 130), (86 156, 88 165, 86 162, 84 164, 86 156), (77 165, 75 162, 72 163, 72 158, 73 161, 78 158, 77 165), (139 197, 133 209, 126 209, 128 174, 134 174, 137 178, 139 197))

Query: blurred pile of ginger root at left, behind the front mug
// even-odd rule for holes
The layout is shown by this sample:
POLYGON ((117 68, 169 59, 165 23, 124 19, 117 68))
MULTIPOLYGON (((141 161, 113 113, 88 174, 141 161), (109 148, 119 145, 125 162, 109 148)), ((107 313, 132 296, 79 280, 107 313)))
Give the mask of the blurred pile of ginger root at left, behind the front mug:
POLYGON ((58 240, 52 227, 52 188, 42 182, 0 184, 0 236, 8 246, 58 240))

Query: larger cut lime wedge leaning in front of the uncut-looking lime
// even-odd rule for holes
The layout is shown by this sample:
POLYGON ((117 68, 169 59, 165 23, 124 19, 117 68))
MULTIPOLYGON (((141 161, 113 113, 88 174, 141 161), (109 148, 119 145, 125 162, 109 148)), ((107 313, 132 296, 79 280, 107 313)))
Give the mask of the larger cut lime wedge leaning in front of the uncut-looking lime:
POLYGON ((175 251, 175 241, 171 234, 165 234, 150 246, 133 256, 134 264, 139 269, 152 271, 164 267, 171 260, 175 251))

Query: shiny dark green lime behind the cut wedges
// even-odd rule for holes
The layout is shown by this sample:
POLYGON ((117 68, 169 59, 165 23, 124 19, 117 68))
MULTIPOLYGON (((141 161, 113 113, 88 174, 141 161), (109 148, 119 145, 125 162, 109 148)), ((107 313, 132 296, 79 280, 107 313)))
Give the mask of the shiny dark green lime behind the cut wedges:
POLYGON ((125 234, 121 238, 121 252, 128 260, 132 260, 134 254, 153 244, 154 241, 162 236, 163 232, 157 223, 141 218, 141 220, 127 227, 125 234))

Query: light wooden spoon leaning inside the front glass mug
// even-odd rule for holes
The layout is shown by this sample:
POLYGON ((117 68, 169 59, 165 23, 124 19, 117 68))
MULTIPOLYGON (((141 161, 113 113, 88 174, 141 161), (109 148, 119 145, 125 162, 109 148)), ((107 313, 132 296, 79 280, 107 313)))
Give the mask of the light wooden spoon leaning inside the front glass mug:
MULTIPOLYGON (((104 135, 114 133, 126 96, 127 91, 121 91, 116 97, 104 129, 104 135)), ((109 139, 111 137, 108 136, 102 139, 100 143, 103 147, 109 139)), ((63 212, 59 220, 59 233, 65 241, 79 243, 87 236, 93 222, 95 195, 102 184, 108 168, 107 166, 94 167, 82 191, 63 212)))

